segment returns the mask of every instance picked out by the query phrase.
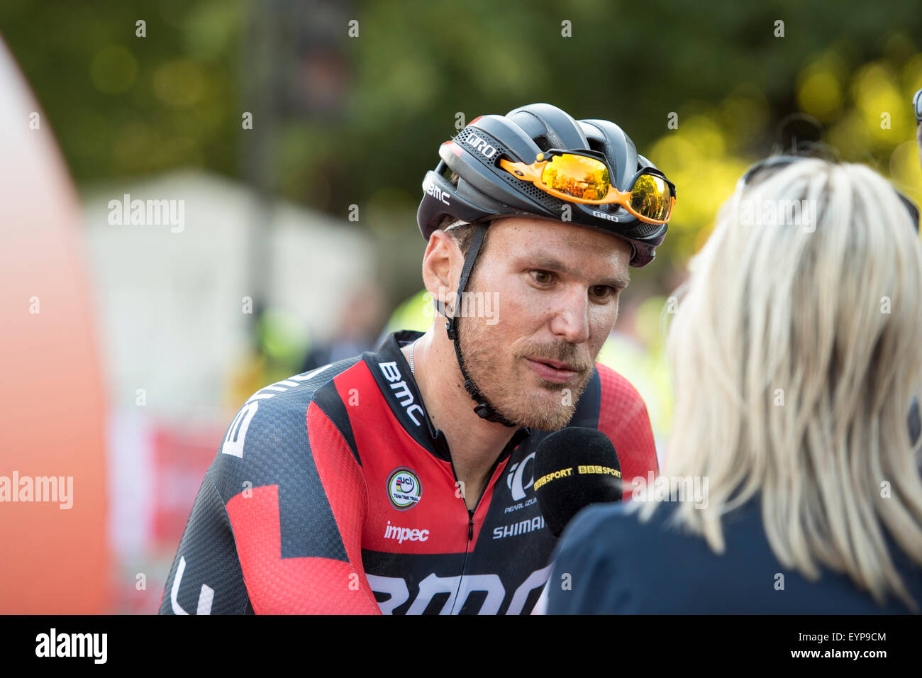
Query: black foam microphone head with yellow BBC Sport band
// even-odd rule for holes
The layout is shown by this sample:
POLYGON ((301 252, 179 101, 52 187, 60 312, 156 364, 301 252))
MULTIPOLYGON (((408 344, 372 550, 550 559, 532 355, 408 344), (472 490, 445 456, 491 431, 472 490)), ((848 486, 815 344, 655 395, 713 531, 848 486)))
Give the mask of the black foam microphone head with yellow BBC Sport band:
POLYGON ((585 506, 621 501, 621 462, 609 436, 577 426, 550 434, 535 452, 534 487, 555 537, 585 506))

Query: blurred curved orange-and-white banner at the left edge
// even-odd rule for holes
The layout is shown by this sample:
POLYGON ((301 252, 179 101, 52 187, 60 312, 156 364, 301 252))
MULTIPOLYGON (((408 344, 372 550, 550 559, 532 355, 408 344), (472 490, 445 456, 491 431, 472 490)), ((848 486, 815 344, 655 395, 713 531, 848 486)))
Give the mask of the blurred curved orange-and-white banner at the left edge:
POLYGON ((77 195, 3 42, 0 93, 0 613, 103 613, 104 398, 77 195))

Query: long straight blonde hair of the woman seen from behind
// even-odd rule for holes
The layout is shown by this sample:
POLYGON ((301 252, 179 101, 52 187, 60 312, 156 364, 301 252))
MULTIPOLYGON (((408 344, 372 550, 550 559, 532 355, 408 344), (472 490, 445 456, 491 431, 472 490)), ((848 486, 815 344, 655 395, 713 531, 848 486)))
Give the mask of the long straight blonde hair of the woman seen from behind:
POLYGON ((802 159, 739 185, 669 328, 663 475, 710 489, 705 508, 680 502, 672 520, 722 553, 721 516, 759 494, 782 565, 810 579, 825 565, 879 604, 892 592, 916 611, 884 530, 922 565, 907 427, 922 386, 920 291, 922 247, 877 172, 802 159))

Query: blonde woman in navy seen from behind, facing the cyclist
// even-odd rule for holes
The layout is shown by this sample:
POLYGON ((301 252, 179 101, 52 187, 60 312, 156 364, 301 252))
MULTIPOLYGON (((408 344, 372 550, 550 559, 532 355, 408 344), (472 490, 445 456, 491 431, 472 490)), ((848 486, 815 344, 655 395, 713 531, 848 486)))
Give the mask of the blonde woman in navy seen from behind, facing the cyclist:
POLYGON ((548 613, 922 610, 912 209, 857 164, 747 172, 669 329, 662 475, 568 526, 548 613))

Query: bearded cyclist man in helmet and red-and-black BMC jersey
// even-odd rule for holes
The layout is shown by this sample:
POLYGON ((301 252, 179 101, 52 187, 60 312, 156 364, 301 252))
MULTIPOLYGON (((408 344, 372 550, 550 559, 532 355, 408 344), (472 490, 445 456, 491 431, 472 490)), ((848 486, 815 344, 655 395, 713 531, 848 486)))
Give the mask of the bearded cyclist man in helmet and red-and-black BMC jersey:
POLYGON ((529 613, 556 542, 538 442, 597 428, 624 476, 656 472, 644 401, 594 359, 675 187, 617 125, 547 103, 481 116, 440 156, 418 221, 447 322, 243 404, 161 613, 529 613))

